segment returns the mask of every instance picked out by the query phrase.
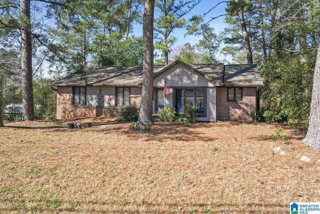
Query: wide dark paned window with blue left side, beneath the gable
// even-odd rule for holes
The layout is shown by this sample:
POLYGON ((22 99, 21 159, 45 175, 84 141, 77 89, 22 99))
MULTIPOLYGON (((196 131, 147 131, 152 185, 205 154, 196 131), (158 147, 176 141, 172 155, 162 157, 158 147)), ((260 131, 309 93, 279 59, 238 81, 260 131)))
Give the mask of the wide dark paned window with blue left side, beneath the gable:
POLYGON ((203 88, 184 88, 175 90, 176 111, 183 112, 184 105, 197 105, 197 116, 204 116, 204 89, 203 88))

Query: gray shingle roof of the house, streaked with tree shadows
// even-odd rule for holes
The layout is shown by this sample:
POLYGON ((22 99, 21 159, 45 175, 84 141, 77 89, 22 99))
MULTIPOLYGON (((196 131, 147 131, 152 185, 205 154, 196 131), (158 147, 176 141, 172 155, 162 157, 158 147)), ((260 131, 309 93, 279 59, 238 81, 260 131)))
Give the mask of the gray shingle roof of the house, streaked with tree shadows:
MULTIPOLYGON (((203 73, 217 82, 226 85, 263 86, 256 65, 223 65, 223 64, 181 64, 203 73), (223 81, 223 72, 224 81, 223 81)), ((154 76, 165 72, 170 65, 155 65, 154 76)), ((87 67, 80 69, 54 83, 51 86, 139 86, 142 83, 142 66, 126 67, 87 67)))

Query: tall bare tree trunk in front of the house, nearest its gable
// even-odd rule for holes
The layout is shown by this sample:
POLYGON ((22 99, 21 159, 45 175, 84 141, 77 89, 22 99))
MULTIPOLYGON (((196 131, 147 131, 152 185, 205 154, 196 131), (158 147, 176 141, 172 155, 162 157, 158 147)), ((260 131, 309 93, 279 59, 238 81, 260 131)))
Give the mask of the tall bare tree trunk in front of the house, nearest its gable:
POLYGON ((141 106, 138 123, 153 124, 152 93, 153 93, 153 13, 154 0, 144 0, 143 14, 143 80, 141 106))

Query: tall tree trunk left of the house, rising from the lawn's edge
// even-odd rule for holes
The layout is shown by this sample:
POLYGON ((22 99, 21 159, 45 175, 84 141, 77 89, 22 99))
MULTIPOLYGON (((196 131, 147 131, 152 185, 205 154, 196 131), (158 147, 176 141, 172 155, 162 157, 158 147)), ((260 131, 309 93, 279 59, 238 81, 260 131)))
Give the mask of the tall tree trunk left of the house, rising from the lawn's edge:
POLYGON ((20 1, 22 120, 34 120, 30 0, 20 1))

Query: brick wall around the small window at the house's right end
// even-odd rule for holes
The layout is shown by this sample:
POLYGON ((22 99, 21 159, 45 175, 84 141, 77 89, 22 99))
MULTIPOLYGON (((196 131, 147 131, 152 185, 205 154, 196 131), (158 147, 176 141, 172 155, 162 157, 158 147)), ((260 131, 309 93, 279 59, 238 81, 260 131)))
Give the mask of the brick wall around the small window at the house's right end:
POLYGON ((226 87, 217 87, 216 92, 217 120, 251 120, 250 111, 256 109, 256 88, 242 88, 241 101, 227 101, 226 87))

